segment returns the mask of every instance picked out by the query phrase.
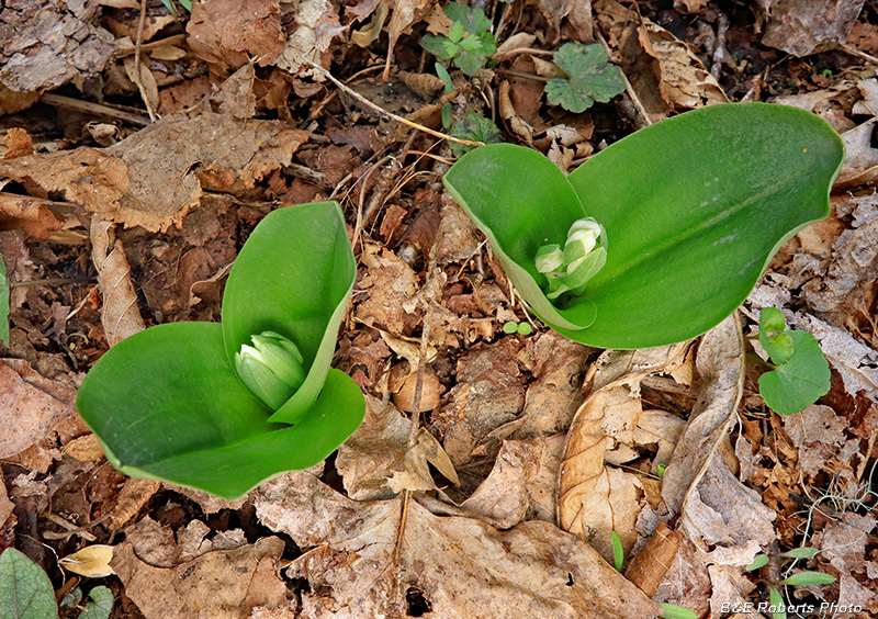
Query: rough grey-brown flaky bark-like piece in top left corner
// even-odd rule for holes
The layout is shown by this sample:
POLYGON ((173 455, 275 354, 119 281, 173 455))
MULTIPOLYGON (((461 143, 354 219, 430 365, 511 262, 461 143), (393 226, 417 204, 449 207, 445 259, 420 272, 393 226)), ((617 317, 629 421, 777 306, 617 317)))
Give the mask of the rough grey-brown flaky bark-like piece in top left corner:
POLYGON ((18 92, 53 90, 99 74, 115 50, 93 24, 100 2, 7 0, 0 10, 0 82, 18 92))

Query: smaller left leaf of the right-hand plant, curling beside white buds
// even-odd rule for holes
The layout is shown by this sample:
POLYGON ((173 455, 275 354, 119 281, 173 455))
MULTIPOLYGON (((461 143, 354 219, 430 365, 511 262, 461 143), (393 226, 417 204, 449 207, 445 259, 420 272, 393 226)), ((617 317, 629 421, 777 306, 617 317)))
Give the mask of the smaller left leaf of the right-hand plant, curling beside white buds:
POLYGON ((545 296, 545 275, 537 271, 537 251, 563 243, 570 226, 586 216, 564 173, 536 150, 513 144, 476 148, 461 157, 442 179, 454 200, 487 237, 494 255, 518 292, 550 326, 581 329, 597 311, 587 296, 559 310, 545 296))

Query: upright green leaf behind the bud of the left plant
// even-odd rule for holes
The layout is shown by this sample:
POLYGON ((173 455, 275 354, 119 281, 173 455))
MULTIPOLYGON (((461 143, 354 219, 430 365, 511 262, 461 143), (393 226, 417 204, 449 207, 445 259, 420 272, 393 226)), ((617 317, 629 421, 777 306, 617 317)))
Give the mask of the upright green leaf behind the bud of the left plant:
POLYGON ((356 275, 345 218, 335 202, 272 211, 241 248, 223 294, 229 363, 241 345, 262 331, 292 340, 305 358, 304 384, 272 421, 295 424, 317 398, 356 275))

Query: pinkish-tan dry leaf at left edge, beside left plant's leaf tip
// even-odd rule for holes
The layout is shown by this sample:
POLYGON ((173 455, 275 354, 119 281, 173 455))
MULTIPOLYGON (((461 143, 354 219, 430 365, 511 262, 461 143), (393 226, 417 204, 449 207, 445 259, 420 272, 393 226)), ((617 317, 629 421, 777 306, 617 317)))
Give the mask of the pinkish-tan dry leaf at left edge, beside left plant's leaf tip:
POLYGON ((45 379, 21 359, 0 363, 0 458, 7 459, 41 440, 74 417, 74 390, 45 379))

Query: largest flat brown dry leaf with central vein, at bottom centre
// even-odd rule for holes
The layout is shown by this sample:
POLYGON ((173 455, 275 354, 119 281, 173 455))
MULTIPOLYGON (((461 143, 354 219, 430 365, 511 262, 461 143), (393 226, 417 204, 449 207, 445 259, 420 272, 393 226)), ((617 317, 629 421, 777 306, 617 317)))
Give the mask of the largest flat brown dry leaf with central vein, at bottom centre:
POLYGON ((305 553, 302 617, 393 617, 408 590, 437 617, 651 618, 661 609, 589 547, 542 521, 497 531, 396 497, 359 503, 313 475, 260 486, 257 514, 305 553))

